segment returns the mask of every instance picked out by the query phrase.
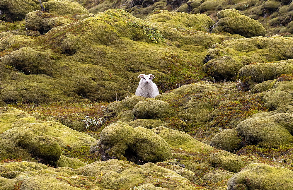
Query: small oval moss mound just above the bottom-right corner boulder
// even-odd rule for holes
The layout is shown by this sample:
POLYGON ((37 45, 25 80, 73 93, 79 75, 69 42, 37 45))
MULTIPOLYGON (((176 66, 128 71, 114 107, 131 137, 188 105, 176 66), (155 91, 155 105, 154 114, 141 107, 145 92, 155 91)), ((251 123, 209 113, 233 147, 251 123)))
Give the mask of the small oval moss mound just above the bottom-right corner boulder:
POLYGON ((244 162, 239 156, 225 150, 219 150, 211 153, 209 155, 209 159, 214 167, 219 167, 229 172, 237 173, 244 166, 244 162))

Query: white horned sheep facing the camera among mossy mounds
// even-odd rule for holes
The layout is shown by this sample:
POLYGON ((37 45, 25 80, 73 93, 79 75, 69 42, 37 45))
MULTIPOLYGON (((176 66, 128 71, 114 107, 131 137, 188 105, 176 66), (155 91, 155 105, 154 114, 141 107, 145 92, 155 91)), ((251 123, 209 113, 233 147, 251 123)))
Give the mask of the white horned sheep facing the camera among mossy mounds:
POLYGON ((159 95, 158 87, 151 79, 155 78, 152 74, 141 74, 137 78, 141 78, 136 89, 135 95, 144 97, 155 97, 159 95))

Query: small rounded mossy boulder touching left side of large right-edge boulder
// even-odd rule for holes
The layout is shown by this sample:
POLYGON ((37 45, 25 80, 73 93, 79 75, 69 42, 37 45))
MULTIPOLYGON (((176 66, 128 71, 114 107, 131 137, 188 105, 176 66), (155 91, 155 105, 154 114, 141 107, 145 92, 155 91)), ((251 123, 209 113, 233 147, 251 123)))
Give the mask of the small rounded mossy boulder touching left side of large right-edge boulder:
POLYGON ((236 129, 227 129, 216 134, 210 142, 210 145, 217 149, 226 150, 235 153, 241 145, 241 137, 236 129))

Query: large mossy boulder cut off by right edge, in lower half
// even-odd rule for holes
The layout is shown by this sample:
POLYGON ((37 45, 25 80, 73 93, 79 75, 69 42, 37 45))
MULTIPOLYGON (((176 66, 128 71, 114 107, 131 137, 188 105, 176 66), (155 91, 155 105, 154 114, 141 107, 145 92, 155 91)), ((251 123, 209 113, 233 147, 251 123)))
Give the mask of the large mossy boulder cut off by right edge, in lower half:
POLYGON ((247 143, 275 148, 292 142, 292 124, 292 114, 278 113, 246 119, 237 126, 236 130, 247 143))

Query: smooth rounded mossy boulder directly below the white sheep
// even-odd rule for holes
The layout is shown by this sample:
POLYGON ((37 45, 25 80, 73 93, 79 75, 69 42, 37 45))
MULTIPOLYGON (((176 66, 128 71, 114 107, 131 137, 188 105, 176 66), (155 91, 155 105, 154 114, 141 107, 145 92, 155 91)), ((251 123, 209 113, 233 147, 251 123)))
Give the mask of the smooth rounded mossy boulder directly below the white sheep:
POLYGON ((134 106, 135 119, 160 119, 175 114, 169 103, 162 100, 144 99, 134 106))

